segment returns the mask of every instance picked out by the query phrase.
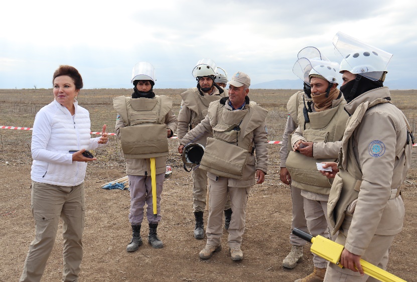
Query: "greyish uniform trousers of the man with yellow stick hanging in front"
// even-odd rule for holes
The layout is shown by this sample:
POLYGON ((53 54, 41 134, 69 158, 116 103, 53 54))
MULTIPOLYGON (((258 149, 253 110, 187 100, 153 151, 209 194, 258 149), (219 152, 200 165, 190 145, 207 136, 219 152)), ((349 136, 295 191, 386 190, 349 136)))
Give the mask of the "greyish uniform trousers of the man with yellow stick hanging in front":
POLYGON ((152 178, 151 176, 128 175, 130 190, 130 212, 129 222, 131 225, 142 224, 144 220, 144 207, 147 206, 146 217, 148 222, 156 223, 161 221, 161 193, 165 173, 157 174, 157 217, 154 217, 154 204, 152 201, 152 178))

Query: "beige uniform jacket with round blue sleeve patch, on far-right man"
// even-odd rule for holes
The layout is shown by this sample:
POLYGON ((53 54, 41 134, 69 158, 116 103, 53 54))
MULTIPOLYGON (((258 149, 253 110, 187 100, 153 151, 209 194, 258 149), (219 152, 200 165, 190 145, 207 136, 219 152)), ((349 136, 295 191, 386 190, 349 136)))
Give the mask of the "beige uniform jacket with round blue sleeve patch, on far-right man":
MULTIPOLYGON (((390 97, 388 88, 377 88, 355 98, 345 109, 352 115, 361 103, 385 97, 390 97)), ((374 234, 394 235, 402 229, 402 199, 390 197, 408 172, 411 146, 406 140, 404 116, 391 103, 369 108, 349 139, 363 174, 353 218, 346 216, 342 225, 351 220, 345 247, 354 254, 363 255, 374 234)))

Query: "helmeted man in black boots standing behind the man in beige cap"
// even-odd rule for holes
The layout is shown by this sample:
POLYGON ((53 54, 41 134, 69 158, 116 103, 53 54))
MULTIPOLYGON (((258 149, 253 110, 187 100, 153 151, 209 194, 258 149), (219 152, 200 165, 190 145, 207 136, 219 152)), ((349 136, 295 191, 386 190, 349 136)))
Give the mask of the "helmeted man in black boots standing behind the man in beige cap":
MULTIPOLYGON (((214 83, 216 72, 216 63, 211 59, 198 61, 193 69, 192 73, 197 80, 197 87, 188 89, 181 94, 182 101, 180 113, 178 114, 177 130, 180 144, 184 135, 206 117, 209 104, 213 101, 220 100, 222 97, 227 97, 227 90, 214 83)), ((211 136, 211 134, 208 132, 204 133, 196 143, 205 147, 208 136, 211 136)), ((206 208, 207 172, 197 167, 192 170, 191 177, 193 178, 193 211, 196 221, 194 237, 196 239, 203 239, 203 215, 204 209, 206 208)), ((224 211, 226 229, 230 223, 231 213, 230 201, 228 201, 224 211)))

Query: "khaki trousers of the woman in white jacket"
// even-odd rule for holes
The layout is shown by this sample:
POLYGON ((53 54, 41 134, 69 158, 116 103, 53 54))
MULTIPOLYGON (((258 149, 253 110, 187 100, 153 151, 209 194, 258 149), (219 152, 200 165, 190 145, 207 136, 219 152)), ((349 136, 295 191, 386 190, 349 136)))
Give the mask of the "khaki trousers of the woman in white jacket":
POLYGON ((19 281, 41 280, 54 247, 60 217, 63 221, 64 238, 62 281, 77 281, 83 256, 84 183, 67 187, 33 181, 31 190, 36 234, 29 246, 19 281))

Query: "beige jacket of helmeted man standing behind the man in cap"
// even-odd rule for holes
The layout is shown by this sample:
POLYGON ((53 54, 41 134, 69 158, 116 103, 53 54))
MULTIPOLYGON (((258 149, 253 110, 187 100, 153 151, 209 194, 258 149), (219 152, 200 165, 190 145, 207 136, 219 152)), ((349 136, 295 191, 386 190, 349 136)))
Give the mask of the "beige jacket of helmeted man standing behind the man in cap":
MULTIPOLYGON (((224 89, 224 88, 222 88, 224 90, 224 92, 221 93, 221 94, 219 92, 219 89, 217 89, 216 87, 213 87, 213 88, 214 88, 214 91, 210 95, 217 95, 218 98, 219 98, 219 100, 221 98, 223 98, 223 97, 226 97, 228 95, 228 91, 226 89, 224 89)), ((198 91, 197 87, 188 89, 187 91, 193 92, 194 95, 200 95, 200 92, 198 91)), ((204 95, 209 95, 209 94, 204 93, 204 95)), ((196 99, 195 101, 199 101, 200 102, 199 99, 196 99)), ((199 106, 202 109, 204 109, 204 110, 207 110, 208 109, 208 107, 204 106, 201 102, 200 102, 199 106)), ((203 117, 203 119, 204 119, 204 117, 203 117)), ((195 112, 195 111, 193 111, 189 107, 187 107, 187 105, 184 103, 184 100, 182 100, 181 101, 181 109, 180 109, 180 112, 178 114, 178 128, 177 128, 177 136, 178 136, 179 142, 181 142, 181 139, 190 130, 190 125, 192 123, 192 120, 195 120, 195 119, 199 119, 198 118, 198 113, 195 112)), ((202 119, 200 119, 199 122, 201 120, 202 119)), ((199 144, 201 144, 203 146, 206 146, 207 137, 212 137, 212 135, 210 135, 210 133, 206 132, 206 133, 204 133, 204 136, 201 136, 199 138, 199 141, 198 142, 193 142, 193 143, 199 143, 199 144)))

